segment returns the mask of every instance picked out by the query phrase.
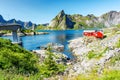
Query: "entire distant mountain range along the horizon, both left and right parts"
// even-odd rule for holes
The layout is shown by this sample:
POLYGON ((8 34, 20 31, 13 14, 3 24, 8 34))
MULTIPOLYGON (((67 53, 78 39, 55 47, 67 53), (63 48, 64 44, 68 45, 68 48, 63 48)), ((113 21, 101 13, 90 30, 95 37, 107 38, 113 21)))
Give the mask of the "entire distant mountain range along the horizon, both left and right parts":
MULTIPOLYGON (((17 23, 24 29, 34 29, 35 26, 37 27, 37 25, 31 21, 24 22, 16 19, 10 19, 7 21, 2 15, 0 15, 0 24, 3 23, 17 23)), ((117 11, 110 11, 97 17, 93 14, 88 14, 87 16, 81 14, 68 15, 62 10, 51 20, 50 23, 40 25, 46 26, 43 27, 45 29, 66 30, 111 27, 118 24, 120 24, 120 12, 117 11)))

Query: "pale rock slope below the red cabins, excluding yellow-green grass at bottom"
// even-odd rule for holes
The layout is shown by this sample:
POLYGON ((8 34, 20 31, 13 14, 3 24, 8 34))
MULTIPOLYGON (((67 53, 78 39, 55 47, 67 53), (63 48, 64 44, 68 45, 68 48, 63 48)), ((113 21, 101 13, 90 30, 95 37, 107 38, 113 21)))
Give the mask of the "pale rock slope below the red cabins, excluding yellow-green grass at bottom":
MULTIPOLYGON (((104 32, 108 29, 104 29, 104 32)), ((120 60, 116 60, 114 65, 111 62, 112 59, 120 56, 120 47, 116 46, 117 42, 120 42, 119 30, 118 28, 115 33, 107 32, 106 34, 109 35, 102 40, 95 37, 81 37, 69 41, 69 48, 77 61, 66 70, 67 75, 77 76, 90 73, 94 69, 98 74, 102 74, 105 68, 120 70, 120 60)))

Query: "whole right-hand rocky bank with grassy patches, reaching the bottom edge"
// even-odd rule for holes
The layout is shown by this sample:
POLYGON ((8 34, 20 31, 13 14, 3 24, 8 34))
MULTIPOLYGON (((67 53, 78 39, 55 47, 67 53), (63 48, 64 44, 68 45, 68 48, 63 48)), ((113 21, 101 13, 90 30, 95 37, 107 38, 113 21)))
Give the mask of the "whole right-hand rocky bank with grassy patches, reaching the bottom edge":
POLYGON ((75 56, 72 64, 68 64, 63 75, 45 80, 99 80, 106 76, 106 70, 108 73, 120 71, 120 28, 104 28, 103 31, 104 39, 80 37, 70 40, 69 48, 75 56))

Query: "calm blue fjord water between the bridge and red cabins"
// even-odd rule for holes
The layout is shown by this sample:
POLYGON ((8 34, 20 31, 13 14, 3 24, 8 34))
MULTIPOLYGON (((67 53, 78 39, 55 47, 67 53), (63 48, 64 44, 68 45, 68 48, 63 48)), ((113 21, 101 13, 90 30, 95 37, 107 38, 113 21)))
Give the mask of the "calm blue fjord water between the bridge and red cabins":
MULTIPOLYGON (((27 50, 37 50, 40 46, 48 43, 58 43, 64 45, 64 54, 72 58, 72 54, 68 48, 68 41, 82 37, 83 30, 39 30, 38 32, 48 32, 49 34, 23 36, 21 37, 23 47, 27 50)), ((12 40, 11 36, 3 37, 12 40)))

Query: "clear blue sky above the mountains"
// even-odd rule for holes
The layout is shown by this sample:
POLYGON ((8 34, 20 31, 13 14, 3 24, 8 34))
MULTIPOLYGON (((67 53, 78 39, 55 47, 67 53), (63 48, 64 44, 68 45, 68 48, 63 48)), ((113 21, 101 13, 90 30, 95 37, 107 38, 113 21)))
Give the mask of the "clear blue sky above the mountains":
POLYGON ((0 14, 6 20, 49 23, 62 9, 67 14, 100 16, 120 11, 120 0, 0 0, 0 14))

